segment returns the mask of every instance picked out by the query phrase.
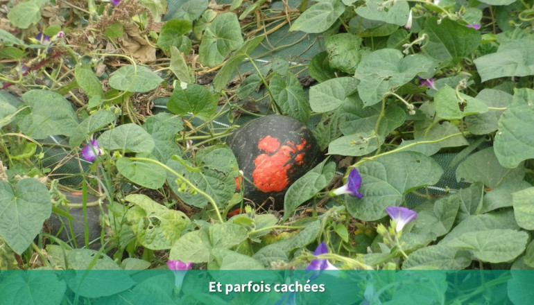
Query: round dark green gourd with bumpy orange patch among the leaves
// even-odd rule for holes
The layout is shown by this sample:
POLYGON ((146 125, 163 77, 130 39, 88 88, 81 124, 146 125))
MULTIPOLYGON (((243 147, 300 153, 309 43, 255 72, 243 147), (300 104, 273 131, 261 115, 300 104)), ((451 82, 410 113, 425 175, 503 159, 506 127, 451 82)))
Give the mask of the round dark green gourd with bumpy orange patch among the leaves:
POLYGON ((272 114, 241 125, 229 141, 245 181, 245 198, 261 204, 269 197, 284 207, 284 195, 316 165, 320 150, 311 131, 290 116, 272 114))

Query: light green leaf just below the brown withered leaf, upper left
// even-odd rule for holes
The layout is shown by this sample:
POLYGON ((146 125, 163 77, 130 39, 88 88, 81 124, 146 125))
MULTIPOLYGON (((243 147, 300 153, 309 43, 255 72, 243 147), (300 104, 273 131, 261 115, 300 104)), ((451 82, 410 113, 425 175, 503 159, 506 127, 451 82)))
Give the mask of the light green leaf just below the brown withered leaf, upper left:
POLYGON ((163 81, 144 66, 124 66, 111 73, 109 84, 113 89, 127 92, 149 92, 163 81))

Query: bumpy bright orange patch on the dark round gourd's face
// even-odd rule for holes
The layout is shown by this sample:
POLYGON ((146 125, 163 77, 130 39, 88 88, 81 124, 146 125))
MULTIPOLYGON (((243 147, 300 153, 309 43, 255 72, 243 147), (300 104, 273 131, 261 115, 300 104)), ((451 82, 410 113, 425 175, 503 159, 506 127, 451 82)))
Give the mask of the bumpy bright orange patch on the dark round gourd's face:
POLYGON ((283 145, 278 139, 267 136, 261 138, 258 149, 264 151, 254 159, 255 170, 252 172, 252 182, 257 189, 268 192, 279 192, 289 184, 288 173, 291 166, 302 164, 305 153, 302 152, 306 146, 306 140, 300 139, 301 143, 296 144, 286 141, 283 145))

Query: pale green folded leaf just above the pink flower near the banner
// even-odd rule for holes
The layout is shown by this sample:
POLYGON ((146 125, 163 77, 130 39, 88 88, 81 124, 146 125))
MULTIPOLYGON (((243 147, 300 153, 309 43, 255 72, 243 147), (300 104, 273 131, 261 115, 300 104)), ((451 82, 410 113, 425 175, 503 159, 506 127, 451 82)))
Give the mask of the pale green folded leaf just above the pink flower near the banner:
POLYGON ((203 227, 180 237, 171 248, 169 259, 207 263, 212 260, 213 249, 228 249, 239 245, 247 237, 247 230, 233 223, 203 227))

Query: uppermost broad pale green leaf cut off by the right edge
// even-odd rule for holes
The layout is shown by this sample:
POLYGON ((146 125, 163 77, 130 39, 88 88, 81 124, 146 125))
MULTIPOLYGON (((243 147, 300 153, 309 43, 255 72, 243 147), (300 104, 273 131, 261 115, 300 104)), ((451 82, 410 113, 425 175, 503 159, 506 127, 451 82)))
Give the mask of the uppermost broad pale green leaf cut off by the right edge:
POLYGON ((529 76, 534 74, 534 58, 530 56, 534 41, 528 38, 504 40, 496 53, 474 60, 481 80, 503 76, 529 76))

